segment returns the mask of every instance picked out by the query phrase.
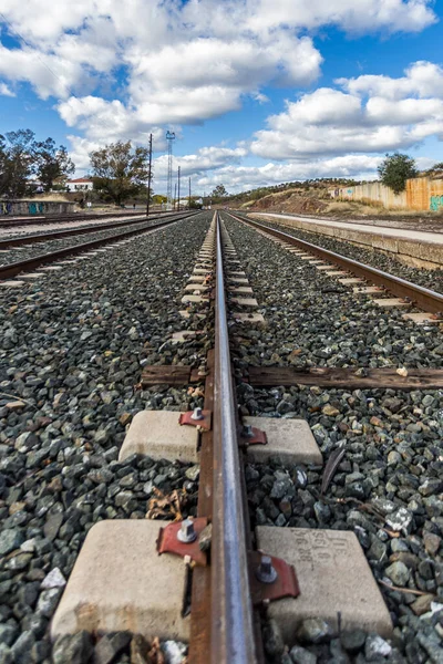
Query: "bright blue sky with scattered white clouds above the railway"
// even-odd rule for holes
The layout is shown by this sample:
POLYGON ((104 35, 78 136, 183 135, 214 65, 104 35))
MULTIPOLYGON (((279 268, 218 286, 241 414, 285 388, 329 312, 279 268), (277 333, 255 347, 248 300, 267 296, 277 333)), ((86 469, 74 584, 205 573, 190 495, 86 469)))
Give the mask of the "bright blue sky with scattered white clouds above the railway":
MULTIPOLYGON (((432 0, 0 0, 0 133, 147 145, 203 194, 443 160, 432 0)), ((443 13, 443 10, 440 10, 443 13)), ((440 17, 441 18, 441 17, 440 17)))

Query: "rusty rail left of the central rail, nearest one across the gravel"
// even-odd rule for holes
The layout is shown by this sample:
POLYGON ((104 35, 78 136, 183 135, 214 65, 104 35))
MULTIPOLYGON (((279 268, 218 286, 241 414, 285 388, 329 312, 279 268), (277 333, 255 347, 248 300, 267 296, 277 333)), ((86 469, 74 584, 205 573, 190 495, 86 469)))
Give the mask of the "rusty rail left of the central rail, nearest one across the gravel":
POLYGON ((126 232, 116 234, 113 236, 107 236, 105 238, 100 238, 97 240, 92 240, 91 242, 82 242, 81 245, 74 245, 72 247, 66 247, 65 249, 59 249, 58 251, 51 251, 49 253, 41 253, 40 256, 34 256, 33 258, 28 258, 25 260, 21 260, 18 262, 9 263, 7 266, 0 266, 0 280, 2 279, 11 279, 12 277, 17 277, 20 272, 24 272, 28 270, 35 270, 37 268, 60 260, 61 258, 66 258, 69 256, 76 256, 78 253, 83 253, 84 251, 90 251, 91 249, 96 249, 102 245, 109 245, 110 242, 124 240, 131 238, 136 235, 141 235, 143 232, 150 232, 153 230, 157 230, 159 228, 164 228, 165 226, 169 226, 171 224, 175 224, 182 219, 186 219, 188 217, 195 216, 196 212, 187 212, 185 215, 181 215, 178 218, 174 217, 174 219, 168 219, 167 221, 161 221, 159 224, 155 224, 154 226, 147 226, 144 228, 137 228, 135 230, 127 230, 126 232))

